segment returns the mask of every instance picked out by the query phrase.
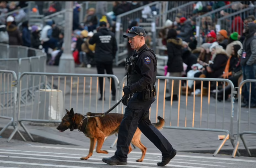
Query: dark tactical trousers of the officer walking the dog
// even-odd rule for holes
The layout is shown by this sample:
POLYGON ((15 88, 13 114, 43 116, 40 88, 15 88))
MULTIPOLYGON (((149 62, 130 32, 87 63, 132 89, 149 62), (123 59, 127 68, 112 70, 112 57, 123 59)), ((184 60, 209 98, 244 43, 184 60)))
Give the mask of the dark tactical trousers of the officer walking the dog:
POLYGON ((121 162, 127 161, 129 145, 137 127, 162 152, 162 156, 170 156, 172 152, 170 142, 149 120, 149 108, 154 100, 142 101, 141 99, 141 93, 135 93, 125 108, 114 156, 121 162))

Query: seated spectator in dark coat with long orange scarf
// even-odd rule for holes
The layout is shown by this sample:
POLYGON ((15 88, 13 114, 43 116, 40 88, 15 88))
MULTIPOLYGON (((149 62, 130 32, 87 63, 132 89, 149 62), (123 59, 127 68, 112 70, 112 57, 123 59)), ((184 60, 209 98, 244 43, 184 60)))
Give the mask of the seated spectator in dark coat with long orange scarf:
MULTIPOLYGON (((239 44, 235 44, 232 46, 232 54, 228 59, 228 62, 226 64, 224 74, 222 75, 222 78, 226 78, 228 80, 231 80, 231 82, 234 84, 234 87, 238 87, 238 79, 242 76, 242 67, 240 65, 240 58, 238 56, 238 50, 240 50, 241 46, 239 44)), ((231 86, 228 85, 225 87, 225 100, 228 99, 228 95, 231 93, 231 86)), ((223 100, 223 92, 224 90, 218 90, 218 100, 223 100)), ((214 98, 216 98, 216 92, 212 95, 214 98)))

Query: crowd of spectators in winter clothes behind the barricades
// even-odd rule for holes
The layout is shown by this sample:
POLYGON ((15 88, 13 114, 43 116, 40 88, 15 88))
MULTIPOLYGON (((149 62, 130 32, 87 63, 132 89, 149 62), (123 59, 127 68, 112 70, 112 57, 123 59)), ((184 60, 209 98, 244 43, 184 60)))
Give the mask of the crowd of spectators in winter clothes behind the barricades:
MULTIPOLYGON (((47 11, 43 10, 42 2, 36 2, 38 12, 45 16, 61 10, 60 2, 53 2, 47 11)), ((72 24, 72 54, 74 61, 81 67, 90 68, 96 66, 99 74, 113 74, 112 64, 117 52, 115 38, 116 16, 139 8, 150 2, 113 2, 111 14, 107 14, 107 2, 96 2, 95 8, 88 8, 84 18, 80 19, 81 5, 75 2, 72 24), (80 23, 82 20, 82 23, 80 23), (102 57, 104 56, 104 57, 102 57)), ((170 2, 169 2, 170 3, 170 2)), ((174 2, 175 3, 175 2, 174 2)), ((216 10, 234 2, 197 2, 194 4, 192 13, 176 13, 175 16, 167 18, 164 27, 158 32, 161 45, 166 46, 164 54, 168 56, 165 70, 166 76, 187 76, 196 78, 227 78, 238 87, 242 80, 256 79, 256 19, 255 13, 248 11, 242 16, 236 15, 232 20, 221 22, 221 30, 216 28, 216 15, 208 15, 200 20, 200 31, 196 31, 196 17, 216 10), (174 18, 175 17, 175 18, 174 18), (197 34, 198 33, 198 34, 197 34), (198 41, 200 40, 200 41, 198 41), (198 43, 202 44, 198 47, 198 43)), ((54 19, 45 20, 44 26, 31 24, 29 20, 22 21, 17 17, 20 13, 14 13, 8 17, 1 17, 2 14, 21 9, 27 4, 19 2, 0 2, 0 43, 10 45, 22 45, 36 49, 43 49, 48 54, 47 64, 59 64, 60 57, 64 50, 64 33, 62 28, 56 25, 54 19), (4 20, 3 20, 4 19, 4 20), (21 22, 22 21, 22 22, 21 22), (18 26, 17 22, 20 22, 18 26)), ((252 2, 238 2, 221 10, 218 14, 228 16, 254 6, 252 2)), ((23 11, 24 12, 24 11, 23 11)), ((32 12, 35 12, 33 8, 32 12)), ((146 22, 146 18, 159 14, 159 6, 147 6, 142 10, 141 16, 122 20, 122 26, 126 32, 132 26, 139 26, 146 22)), ((150 32, 147 32, 146 44, 152 46, 150 32)), ((133 50, 128 39, 126 41, 130 57, 133 50)), ((100 79, 100 100, 102 97, 102 79, 100 79)), ((112 99, 115 97, 114 82, 112 82, 112 99)), ((173 92, 172 82, 169 82, 169 94, 173 94, 173 101, 178 100, 178 81, 174 80, 173 92)), ((251 107, 256 107, 256 90, 252 83, 251 107)), ((188 82, 188 94, 208 96, 208 82, 201 82, 194 86, 194 82, 188 82), (195 92, 194 92, 194 87, 195 92)), ((243 89, 243 104, 248 107, 249 84, 243 89)), ((214 82, 210 92, 214 96, 218 93, 217 99, 223 100, 222 93, 225 89, 224 99, 228 99, 231 93, 231 86, 219 84, 215 90, 214 82)), ((182 87, 182 94, 186 89, 182 87)), ((166 97, 170 100, 171 97, 166 97)))

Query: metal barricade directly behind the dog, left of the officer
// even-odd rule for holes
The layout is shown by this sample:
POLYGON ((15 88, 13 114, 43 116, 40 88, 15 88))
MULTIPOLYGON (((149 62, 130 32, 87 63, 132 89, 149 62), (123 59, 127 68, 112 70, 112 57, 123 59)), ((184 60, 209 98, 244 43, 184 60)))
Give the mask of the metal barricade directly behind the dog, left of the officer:
MULTIPOLYGON (((118 102, 118 100, 112 101, 111 98, 113 82, 115 82, 116 98, 118 98, 120 95, 119 80, 114 75, 24 72, 20 76, 18 85, 18 122, 34 141, 24 122, 60 123, 61 118, 66 114, 65 108, 68 110, 74 108, 80 114, 103 113, 118 102), (110 79, 108 87, 106 78, 110 79), (44 87, 40 85, 42 80, 45 80, 44 87), (103 83, 102 97, 106 100, 99 102, 98 85, 101 80, 103 83), (50 83, 50 89, 46 87, 47 82, 50 83), (24 106, 21 106, 21 91, 24 85, 26 96, 24 106), (32 92, 30 99, 27 97, 29 91, 32 92), (102 106, 101 109, 100 106, 102 106)), ((116 112, 117 110, 118 108, 116 112)))

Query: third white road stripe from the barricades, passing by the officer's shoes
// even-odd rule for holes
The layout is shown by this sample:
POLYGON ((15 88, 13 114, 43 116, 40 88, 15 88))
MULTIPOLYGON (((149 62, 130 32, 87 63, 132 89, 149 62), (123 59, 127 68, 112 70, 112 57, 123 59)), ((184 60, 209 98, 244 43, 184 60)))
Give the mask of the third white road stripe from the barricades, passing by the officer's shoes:
MULTIPOLYGON (((56 156, 51 156, 50 155, 50 157, 56 157, 56 156)), ((77 160, 60 160, 60 159, 49 159, 49 158, 31 158, 31 157, 23 157, 23 156, 6 156, 6 155, 0 155, 0 158, 21 158, 21 159, 34 159, 34 160, 52 160, 52 161, 59 161, 59 162, 76 162, 76 163, 85 163, 85 162, 87 162, 87 161, 77 161, 77 160)), ((90 158, 90 160, 102 160, 102 159, 90 158)), ((149 161, 158 161, 159 162, 159 160, 149 160, 149 161)), ((90 164, 104 164, 104 163, 98 163, 98 162, 88 162, 88 163, 90 163, 90 164)), ((138 164, 140 164, 140 162, 130 162, 130 161, 128 161, 128 163, 138 163, 138 164)), ((225 166, 217 166, 217 165, 213 165, 213 164, 200 164, 200 163, 190 163, 190 162, 174 162, 174 161, 172 161, 172 163, 198 164, 198 165, 203 165, 203 166, 225 167, 225 166)), ((142 164, 143 164, 143 162, 142 162, 142 164)))

